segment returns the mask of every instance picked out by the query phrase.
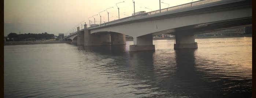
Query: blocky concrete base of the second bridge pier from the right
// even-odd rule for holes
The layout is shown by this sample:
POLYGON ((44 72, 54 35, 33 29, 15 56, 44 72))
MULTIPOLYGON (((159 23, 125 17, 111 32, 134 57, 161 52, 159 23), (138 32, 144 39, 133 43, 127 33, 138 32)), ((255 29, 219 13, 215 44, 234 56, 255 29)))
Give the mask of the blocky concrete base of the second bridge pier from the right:
POLYGON ((155 51, 155 45, 130 45, 130 51, 155 51))

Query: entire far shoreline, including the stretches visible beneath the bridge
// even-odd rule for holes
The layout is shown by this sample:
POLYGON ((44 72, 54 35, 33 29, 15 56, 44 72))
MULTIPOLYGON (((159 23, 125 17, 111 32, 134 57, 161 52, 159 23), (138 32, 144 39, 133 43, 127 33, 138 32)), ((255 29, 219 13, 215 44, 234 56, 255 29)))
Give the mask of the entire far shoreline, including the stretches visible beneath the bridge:
MULTIPOLYGON (((217 36, 195 36, 197 38, 230 38, 230 37, 252 37, 252 34, 243 35, 217 35, 217 36)), ((164 40, 164 39, 175 39, 174 37, 168 38, 153 38, 153 40, 164 40)), ((133 39, 126 39, 126 41, 133 41, 133 39)), ((69 43, 67 41, 20 41, 20 42, 4 42, 4 45, 31 45, 31 44, 59 44, 59 43, 69 43)))

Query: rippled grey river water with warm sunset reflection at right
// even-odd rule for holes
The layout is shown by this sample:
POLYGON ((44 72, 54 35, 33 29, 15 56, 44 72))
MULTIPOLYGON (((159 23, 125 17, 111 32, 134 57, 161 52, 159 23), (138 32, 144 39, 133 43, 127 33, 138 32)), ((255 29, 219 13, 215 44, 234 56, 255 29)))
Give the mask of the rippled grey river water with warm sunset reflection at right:
POLYGON ((129 52, 133 41, 4 46, 4 97, 252 97, 252 37, 195 40, 189 50, 154 40, 155 52, 129 52))

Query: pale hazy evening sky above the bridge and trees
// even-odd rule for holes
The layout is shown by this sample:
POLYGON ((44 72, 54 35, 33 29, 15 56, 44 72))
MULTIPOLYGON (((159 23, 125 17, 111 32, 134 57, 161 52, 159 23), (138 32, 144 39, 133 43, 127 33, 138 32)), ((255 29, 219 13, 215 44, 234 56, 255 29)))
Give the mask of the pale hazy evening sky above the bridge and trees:
POLYGON ((134 11, 133 1, 135 12, 150 12, 150 9, 159 10, 159 1, 163 2, 163 9, 190 3, 192 0, 4 0, 4 36, 11 32, 47 32, 56 36, 59 33, 68 34, 77 26, 81 29, 81 24, 84 29, 85 22, 89 27, 89 20, 94 24, 94 18, 95 23, 99 24, 100 16, 101 23, 107 22, 107 11, 110 21, 118 19, 118 7, 120 18, 131 16, 134 11))

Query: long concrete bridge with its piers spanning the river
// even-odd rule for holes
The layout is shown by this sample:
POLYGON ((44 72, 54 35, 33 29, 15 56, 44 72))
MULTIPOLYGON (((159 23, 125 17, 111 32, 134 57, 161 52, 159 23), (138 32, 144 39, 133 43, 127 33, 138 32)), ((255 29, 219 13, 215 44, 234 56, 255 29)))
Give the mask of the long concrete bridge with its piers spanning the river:
POLYGON ((155 50, 153 35, 172 34, 174 49, 197 48, 194 35, 252 26, 252 0, 200 0, 161 11, 129 16, 87 27, 65 37, 77 45, 124 45, 133 37, 130 51, 155 50))

